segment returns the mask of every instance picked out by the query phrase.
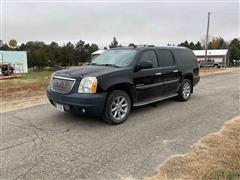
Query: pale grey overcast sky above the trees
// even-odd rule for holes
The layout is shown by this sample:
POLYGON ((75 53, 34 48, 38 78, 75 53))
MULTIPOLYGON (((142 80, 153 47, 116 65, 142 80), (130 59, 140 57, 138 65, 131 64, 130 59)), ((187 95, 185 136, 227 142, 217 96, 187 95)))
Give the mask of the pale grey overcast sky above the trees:
POLYGON ((239 36, 239 2, 3 3, 3 40, 64 43, 85 40, 108 45, 166 45, 198 41, 206 33, 227 40, 239 36))

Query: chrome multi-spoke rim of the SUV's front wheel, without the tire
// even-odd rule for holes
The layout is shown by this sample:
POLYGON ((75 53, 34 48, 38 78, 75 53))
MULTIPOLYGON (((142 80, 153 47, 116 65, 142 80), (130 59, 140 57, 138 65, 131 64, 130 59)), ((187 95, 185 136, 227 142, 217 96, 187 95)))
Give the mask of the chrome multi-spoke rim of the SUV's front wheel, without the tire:
POLYGON ((128 102, 123 96, 116 97, 111 104, 111 113, 114 119, 122 120, 128 112, 128 102))

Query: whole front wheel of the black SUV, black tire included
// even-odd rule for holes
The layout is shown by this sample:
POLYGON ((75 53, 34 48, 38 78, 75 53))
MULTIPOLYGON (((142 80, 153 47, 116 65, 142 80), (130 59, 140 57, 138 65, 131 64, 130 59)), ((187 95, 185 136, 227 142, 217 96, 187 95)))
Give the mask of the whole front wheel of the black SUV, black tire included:
POLYGON ((114 90, 107 97, 103 120, 109 124, 121 124, 129 116, 131 111, 131 99, 122 90, 114 90))

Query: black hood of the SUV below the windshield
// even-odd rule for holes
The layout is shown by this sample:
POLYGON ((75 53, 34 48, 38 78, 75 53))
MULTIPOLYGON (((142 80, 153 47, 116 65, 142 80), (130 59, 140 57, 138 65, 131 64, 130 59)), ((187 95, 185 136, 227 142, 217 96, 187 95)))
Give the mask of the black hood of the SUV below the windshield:
POLYGON ((72 67, 69 69, 64 69, 60 71, 56 71, 54 73, 55 76, 61 77, 69 77, 79 79, 84 76, 94 76, 99 77, 103 74, 120 71, 121 68, 108 67, 108 66, 95 66, 95 65, 87 65, 80 67, 72 67))

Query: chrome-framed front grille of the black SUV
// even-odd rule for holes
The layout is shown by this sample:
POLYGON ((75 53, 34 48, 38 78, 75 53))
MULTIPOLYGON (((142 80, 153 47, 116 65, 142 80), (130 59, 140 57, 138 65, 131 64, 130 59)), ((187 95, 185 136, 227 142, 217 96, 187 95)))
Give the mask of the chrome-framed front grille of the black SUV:
POLYGON ((53 76, 51 89, 58 93, 67 94, 72 90, 75 81, 76 80, 72 78, 53 76))

